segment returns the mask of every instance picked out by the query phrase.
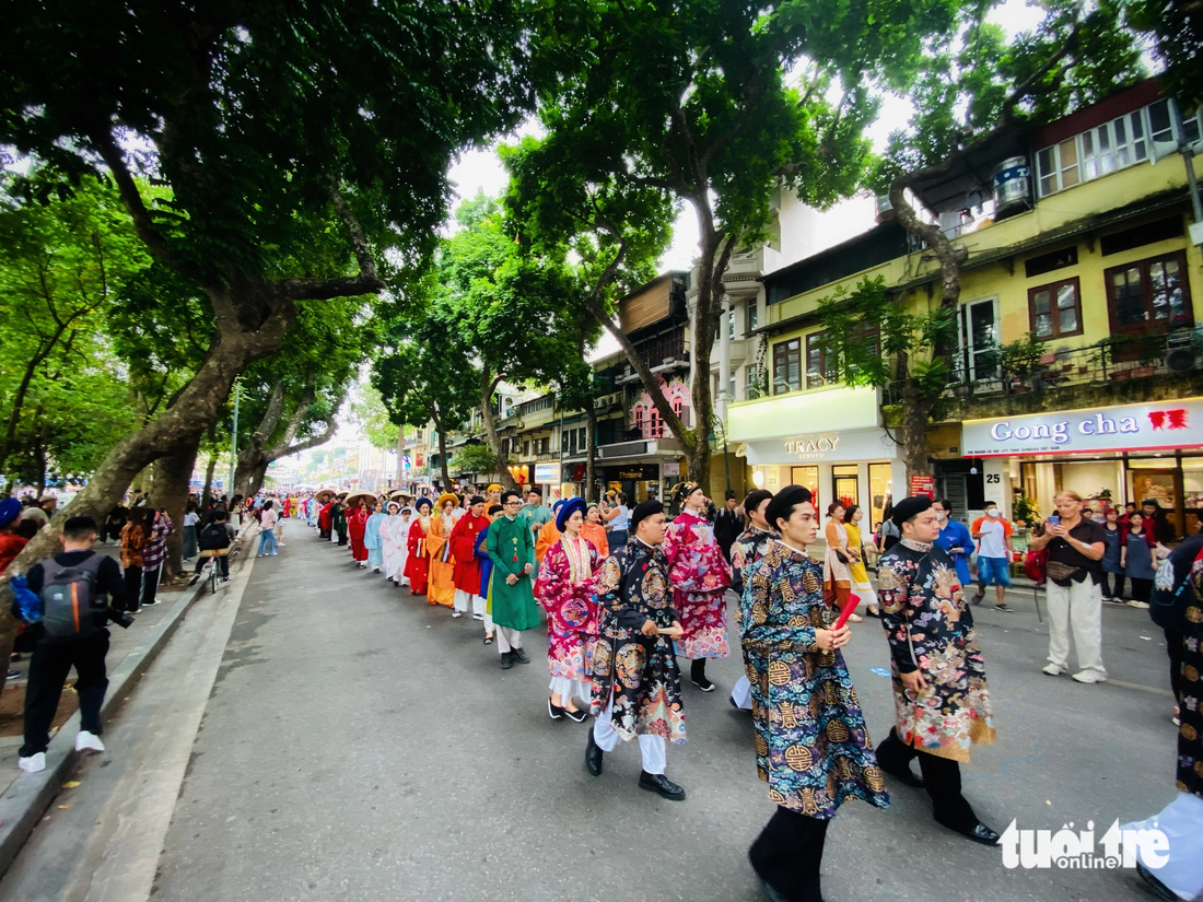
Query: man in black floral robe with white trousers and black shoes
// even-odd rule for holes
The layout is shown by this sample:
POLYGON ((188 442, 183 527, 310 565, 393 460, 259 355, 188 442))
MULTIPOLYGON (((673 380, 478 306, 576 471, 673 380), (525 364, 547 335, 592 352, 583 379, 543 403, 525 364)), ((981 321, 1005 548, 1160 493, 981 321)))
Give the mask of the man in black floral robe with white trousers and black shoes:
POLYGON ((685 742, 681 671, 672 640, 682 634, 669 594, 664 505, 639 504, 630 515, 633 536, 602 565, 598 603, 602 629, 593 652, 592 713, 585 766, 602 776, 602 755, 618 740, 639 736, 644 770, 639 788, 670 801, 685 790, 664 776, 665 741, 685 742))

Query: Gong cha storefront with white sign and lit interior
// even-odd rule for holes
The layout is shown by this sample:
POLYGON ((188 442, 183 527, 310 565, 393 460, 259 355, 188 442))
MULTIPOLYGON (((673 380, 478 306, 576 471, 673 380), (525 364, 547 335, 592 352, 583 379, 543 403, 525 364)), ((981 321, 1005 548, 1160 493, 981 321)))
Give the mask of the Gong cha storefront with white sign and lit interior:
POLYGON ((1057 492, 1095 508, 1156 502, 1179 535, 1203 510, 1203 398, 970 420, 962 452, 997 468, 1015 500, 1041 517, 1057 492))

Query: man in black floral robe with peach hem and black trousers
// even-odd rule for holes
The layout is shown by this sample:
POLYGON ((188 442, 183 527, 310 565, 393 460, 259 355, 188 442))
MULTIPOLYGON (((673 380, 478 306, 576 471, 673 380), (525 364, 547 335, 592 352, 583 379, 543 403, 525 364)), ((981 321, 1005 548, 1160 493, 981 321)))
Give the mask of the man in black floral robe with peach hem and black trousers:
POLYGON ((878 562, 897 725, 877 747, 877 760, 902 783, 920 785, 909 770, 918 758, 936 820, 992 845, 998 833, 961 795, 959 762, 970 760, 974 743, 994 742, 994 708, 973 615, 953 559, 936 545, 940 522, 931 506, 926 495, 894 505, 902 539, 878 562))

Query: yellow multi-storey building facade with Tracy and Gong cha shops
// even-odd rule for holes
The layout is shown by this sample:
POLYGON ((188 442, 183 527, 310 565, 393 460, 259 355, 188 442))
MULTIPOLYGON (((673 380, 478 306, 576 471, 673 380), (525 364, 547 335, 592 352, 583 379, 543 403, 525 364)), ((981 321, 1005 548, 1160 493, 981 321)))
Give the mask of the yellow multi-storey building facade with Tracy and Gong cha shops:
MULTIPOLYGON (((1047 514, 1056 491, 1073 488, 1097 506, 1151 497, 1179 532, 1197 524, 1203 255, 1178 146, 1198 147, 1201 120, 1174 124, 1172 112, 1145 82, 1042 129, 992 136, 915 186, 917 206, 965 260, 956 372, 929 429, 935 488, 959 518, 984 500, 1047 514)), ((770 274, 764 397, 733 404, 728 423, 753 483, 807 483, 820 508, 860 504, 873 527, 909 488, 882 413, 889 392, 838 384, 817 310, 878 277, 913 313, 940 303, 934 254, 888 213, 770 274)))

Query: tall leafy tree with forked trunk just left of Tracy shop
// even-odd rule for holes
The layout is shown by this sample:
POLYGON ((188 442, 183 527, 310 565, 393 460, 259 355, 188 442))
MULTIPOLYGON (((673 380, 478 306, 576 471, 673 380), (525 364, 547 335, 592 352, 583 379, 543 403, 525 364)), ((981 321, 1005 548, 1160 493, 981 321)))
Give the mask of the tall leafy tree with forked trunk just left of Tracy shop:
MULTIPOLYGON (((689 203, 703 261, 692 354, 709 366, 723 273, 736 248, 763 235, 774 190, 782 184, 822 207, 863 184, 871 160, 864 129, 876 114, 869 84, 908 84, 924 42, 950 26, 955 6, 954 0, 598 4, 576 41, 586 65, 540 107, 552 148, 545 153, 570 165, 580 160, 565 177, 568 190, 540 177, 552 185, 547 204, 579 209, 585 185, 609 190, 615 182, 689 203), (802 73, 799 87, 787 77, 794 71, 802 73), (556 150, 561 142, 571 149, 556 150)), ((540 206, 528 204, 534 218, 543 218, 540 206)), ((622 229, 606 231, 614 242, 622 229)), ((685 444, 691 477, 707 481, 705 435, 685 429, 671 408, 659 404, 654 379, 633 349, 626 350, 685 444)), ((692 391, 697 421, 710 422, 710 380, 694 380, 692 391)))

